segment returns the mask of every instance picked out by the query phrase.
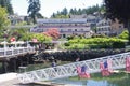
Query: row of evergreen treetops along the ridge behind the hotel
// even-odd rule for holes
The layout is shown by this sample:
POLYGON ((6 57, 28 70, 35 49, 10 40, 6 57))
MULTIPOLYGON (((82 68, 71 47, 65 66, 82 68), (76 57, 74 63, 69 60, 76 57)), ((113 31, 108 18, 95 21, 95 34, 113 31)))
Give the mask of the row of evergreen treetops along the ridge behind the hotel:
POLYGON ((64 8, 61 12, 53 13, 51 18, 69 18, 69 15, 93 14, 94 12, 105 12, 104 6, 93 5, 87 9, 70 9, 69 11, 64 8))

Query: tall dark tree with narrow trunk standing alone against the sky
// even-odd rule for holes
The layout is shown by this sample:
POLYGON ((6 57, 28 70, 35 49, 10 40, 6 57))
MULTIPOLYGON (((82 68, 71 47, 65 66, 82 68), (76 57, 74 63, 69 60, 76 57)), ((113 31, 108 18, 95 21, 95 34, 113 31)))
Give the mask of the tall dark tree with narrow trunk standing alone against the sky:
POLYGON ((39 0, 27 0, 29 3, 27 13, 32 18, 34 24, 36 24, 36 16, 40 11, 40 1, 39 0))

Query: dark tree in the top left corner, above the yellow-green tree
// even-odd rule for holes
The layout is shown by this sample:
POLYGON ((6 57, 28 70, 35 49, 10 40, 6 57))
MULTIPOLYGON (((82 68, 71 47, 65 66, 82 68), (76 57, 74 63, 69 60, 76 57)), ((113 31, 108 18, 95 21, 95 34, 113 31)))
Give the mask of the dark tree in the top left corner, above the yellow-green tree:
POLYGON ((11 0, 0 0, 0 5, 5 8, 9 14, 14 14, 11 0))

